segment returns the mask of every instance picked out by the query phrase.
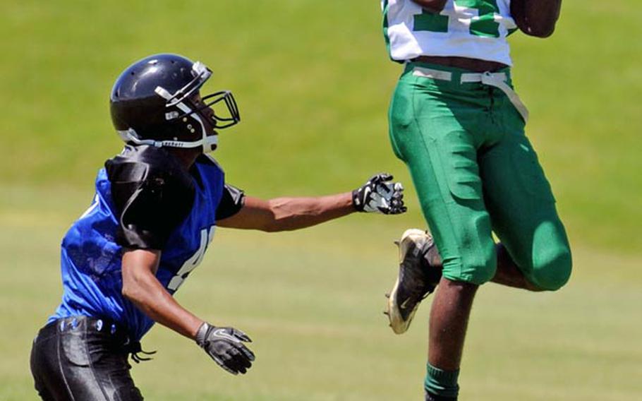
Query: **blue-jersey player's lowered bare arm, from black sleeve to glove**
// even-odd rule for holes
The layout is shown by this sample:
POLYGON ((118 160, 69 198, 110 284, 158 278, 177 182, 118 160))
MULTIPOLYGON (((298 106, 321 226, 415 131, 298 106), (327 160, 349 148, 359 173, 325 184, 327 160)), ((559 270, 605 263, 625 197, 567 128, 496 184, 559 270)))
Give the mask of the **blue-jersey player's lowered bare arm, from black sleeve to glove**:
POLYGON ((194 339, 203 321, 178 304, 157 280, 159 260, 160 251, 123 253, 123 296, 157 323, 194 339))

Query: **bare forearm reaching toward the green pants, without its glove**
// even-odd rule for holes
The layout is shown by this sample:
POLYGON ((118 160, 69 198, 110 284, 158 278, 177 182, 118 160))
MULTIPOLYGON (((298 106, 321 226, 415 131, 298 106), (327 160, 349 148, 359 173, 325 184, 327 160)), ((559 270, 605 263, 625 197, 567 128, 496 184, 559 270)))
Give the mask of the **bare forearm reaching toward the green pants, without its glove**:
POLYGON ((350 192, 314 198, 246 197, 239 213, 219 221, 221 227, 259 229, 265 232, 290 231, 318 225, 355 212, 350 192))

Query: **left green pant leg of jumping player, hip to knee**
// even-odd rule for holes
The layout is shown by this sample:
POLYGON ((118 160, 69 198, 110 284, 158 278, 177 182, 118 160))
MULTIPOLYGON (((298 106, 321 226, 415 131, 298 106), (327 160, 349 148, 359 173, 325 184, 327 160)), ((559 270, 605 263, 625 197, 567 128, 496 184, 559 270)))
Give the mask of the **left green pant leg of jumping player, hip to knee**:
POLYGON ((495 275, 496 256, 477 164, 480 139, 470 129, 479 107, 459 101, 466 95, 459 82, 413 76, 412 66, 390 107, 392 146, 411 173, 444 277, 482 284, 495 275))

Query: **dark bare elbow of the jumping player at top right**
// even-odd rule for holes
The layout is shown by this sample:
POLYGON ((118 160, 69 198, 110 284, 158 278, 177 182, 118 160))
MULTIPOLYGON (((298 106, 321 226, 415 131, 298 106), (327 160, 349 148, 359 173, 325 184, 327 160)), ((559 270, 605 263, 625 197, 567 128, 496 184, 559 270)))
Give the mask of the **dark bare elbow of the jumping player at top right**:
POLYGON ((511 0, 511 15, 526 35, 549 37, 555 31, 562 0, 511 0))

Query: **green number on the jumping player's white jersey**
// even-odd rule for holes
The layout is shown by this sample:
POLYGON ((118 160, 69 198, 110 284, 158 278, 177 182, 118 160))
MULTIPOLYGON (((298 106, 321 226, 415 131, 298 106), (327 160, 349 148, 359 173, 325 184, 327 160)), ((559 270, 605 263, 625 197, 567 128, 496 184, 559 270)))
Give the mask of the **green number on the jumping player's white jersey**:
MULTIPOLYGON (((453 0, 456 7, 472 8, 478 16, 471 21, 471 35, 499 37, 499 23, 495 22, 495 13, 499 13, 497 0, 453 0)), ((422 10, 414 20, 415 31, 448 32, 450 17, 422 10)))

